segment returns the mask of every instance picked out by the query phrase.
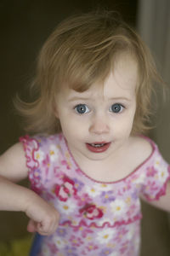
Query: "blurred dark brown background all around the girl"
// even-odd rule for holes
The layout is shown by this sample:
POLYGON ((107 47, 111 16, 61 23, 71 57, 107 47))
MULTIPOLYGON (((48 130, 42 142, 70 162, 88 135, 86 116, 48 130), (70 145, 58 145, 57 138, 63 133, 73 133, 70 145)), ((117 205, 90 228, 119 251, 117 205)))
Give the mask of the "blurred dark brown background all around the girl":
MULTIPOLYGON (((39 49, 60 20, 79 11, 96 8, 114 9, 135 27, 149 45, 163 79, 170 84, 170 2, 168 0, 11 0, 0 1, 0 154, 24 135, 20 119, 14 112, 16 92, 26 97, 26 87, 34 74, 39 49)), ((168 85, 167 85, 168 86, 168 85)), ((158 92, 159 108, 150 131, 164 158, 170 162, 170 101, 163 106, 158 92)), ((11 166, 12 168, 12 166, 11 166)), ((27 181, 22 183, 27 184, 27 181)), ((141 256, 170 255, 169 215, 142 204, 141 256)), ((28 237, 28 219, 21 212, 0 212, 0 245, 28 237)), ((29 236, 30 237, 30 236, 29 236)), ((4 248, 3 248, 4 249, 4 248)), ((0 255, 8 253, 1 251, 0 255), (3 252, 3 253, 2 253, 3 252)), ((17 255, 10 254, 10 255, 17 255)), ((27 255, 21 252, 22 256, 27 255)))

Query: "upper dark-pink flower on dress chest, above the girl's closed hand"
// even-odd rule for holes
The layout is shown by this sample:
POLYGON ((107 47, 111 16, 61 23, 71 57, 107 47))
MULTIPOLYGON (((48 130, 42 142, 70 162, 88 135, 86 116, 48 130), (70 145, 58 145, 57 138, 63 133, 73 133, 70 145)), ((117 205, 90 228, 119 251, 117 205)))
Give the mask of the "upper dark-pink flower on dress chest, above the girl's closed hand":
POLYGON ((63 177, 63 184, 55 186, 55 195, 60 201, 67 201, 71 195, 77 195, 77 189, 74 187, 74 181, 69 177, 63 177))

